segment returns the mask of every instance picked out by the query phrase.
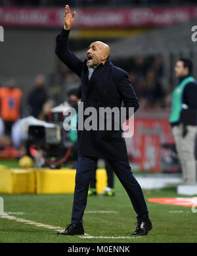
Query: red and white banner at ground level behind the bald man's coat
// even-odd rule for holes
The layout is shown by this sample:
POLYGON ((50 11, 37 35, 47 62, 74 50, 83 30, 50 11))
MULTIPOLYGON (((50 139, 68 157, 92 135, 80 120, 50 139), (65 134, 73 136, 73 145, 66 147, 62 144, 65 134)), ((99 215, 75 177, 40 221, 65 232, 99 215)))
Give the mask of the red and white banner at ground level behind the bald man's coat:
POLYGON ((137 169, 161 172, 161 160, 169 155, 163 143, 174 143, 167 118, 138 118, 135 116, 134 136, 125 139, 131 162, 137 169))

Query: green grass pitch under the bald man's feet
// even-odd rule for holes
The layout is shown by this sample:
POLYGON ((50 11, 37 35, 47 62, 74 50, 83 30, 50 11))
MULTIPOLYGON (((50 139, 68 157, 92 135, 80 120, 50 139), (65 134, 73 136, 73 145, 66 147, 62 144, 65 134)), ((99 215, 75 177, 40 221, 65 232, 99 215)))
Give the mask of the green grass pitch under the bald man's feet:
MULTIPOLYGON (((56 236, 55 230, 37 227, 15 220, 0 218, 1 243, 196 243, 197 213, 190 207, 160 205, 147 201, 153 229, 148 236, 133 237, 136 215, 129 197, 116 179, 116 196, 88 197, 85 211, 117 211, 117 213, 85 213, 83 225, 89 236, 129 236, 130 239, 79 238, 79 236, 56 236), (183 211, 169 213, 169 211, 183 211)), ((5 212, 23 212, 23 215, 10 214, 18 218, 33 220, 62 230, 70 224, 73 195, 5 195, 5 212)), ((174 188, 145 190, 147 197, 177 197, 174 188)), ((180 197, 180 195, 179 195, 180 197)))

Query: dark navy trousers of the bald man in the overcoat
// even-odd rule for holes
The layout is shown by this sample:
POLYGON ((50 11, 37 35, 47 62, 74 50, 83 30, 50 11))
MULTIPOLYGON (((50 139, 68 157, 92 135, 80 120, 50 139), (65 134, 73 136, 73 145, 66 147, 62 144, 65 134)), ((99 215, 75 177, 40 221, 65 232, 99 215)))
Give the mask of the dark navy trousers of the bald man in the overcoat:
MULTIPOLYGON (((83 222, 83 213, 87 205, 87 192, 89 183, 93 176, 93 172, 97 166, 97 158, 85 157, 78 154, 77 171, 76 171, 76 187, 74 192, 74 202, 72 208, 72 224, 83 222)), ((148 219, 148 209, 144 200, 141 186, 133 176, 129 161, 116 160, 110 161, 116 176, 125 188, 133 208, 137 213, 138 221, 146 221, 148 219)))

